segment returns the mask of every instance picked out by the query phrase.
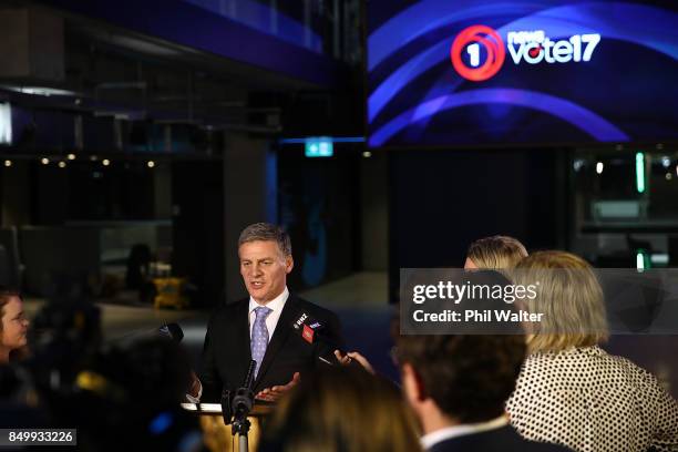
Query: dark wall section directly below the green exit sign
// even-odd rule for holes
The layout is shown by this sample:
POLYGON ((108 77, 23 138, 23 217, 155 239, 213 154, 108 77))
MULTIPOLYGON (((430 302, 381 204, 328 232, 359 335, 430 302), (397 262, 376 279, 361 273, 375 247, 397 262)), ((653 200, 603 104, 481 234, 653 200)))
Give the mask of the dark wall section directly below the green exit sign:
POLYGON ((307 158, 304 146, 278 151, 279 223, 295 256, 290 287, 338 279, 361 267, 360 152, 335 145, 331 158, 307 158))

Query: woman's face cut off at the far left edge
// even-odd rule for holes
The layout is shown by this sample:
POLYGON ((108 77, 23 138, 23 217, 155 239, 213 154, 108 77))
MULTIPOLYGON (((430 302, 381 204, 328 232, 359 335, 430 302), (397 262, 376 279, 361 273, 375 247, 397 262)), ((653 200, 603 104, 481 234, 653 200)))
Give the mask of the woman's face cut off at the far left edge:
POLYGON ((0 364, 19 358, 25 351, 29 321, 21 295, 0 287, 0 364))

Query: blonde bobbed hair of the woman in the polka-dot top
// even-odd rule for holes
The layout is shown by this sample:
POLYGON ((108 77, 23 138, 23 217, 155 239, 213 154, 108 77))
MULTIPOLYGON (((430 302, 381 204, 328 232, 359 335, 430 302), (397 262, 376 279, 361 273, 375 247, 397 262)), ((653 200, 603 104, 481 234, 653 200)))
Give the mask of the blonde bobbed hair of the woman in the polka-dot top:
POLYGON ((538 281, 537 296, 525 299, 530 312, 543 312, 528 327, 530 352, 590 347, 607 340, 603 289, 590 265, 566 251, 537 251, 518 263, 513 282, 538 281))

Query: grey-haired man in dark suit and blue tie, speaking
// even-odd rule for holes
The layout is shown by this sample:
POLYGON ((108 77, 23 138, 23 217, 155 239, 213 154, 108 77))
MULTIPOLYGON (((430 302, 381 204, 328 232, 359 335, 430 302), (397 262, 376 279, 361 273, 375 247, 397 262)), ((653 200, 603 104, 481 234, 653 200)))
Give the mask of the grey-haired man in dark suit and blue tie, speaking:
POLYGON ((203 374, 191 388, 192 400, 218 399, 223 389, 239 388, 255 360, 253 390, 257 399, 275 401, 306 372, 336 363, 332 351, 343 342, 333 312, 287 289, 294 260, 289 236, 280 227, 267 223, 246 227, 238 239, 238 257, 249 298, 223 306, 212 316, 203 374), (301 328, 295 329, 302 316, 301 328))

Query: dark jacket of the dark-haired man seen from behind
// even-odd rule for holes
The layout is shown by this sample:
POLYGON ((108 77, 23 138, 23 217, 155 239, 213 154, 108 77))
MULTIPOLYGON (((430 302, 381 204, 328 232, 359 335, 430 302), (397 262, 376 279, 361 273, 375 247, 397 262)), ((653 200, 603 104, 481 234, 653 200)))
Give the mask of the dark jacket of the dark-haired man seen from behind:
POLYGON ((481 433, 451 438, 433 444, 427 452, 564 452, 569 449, 556 444, 527 441, 511 425, 481 433))

